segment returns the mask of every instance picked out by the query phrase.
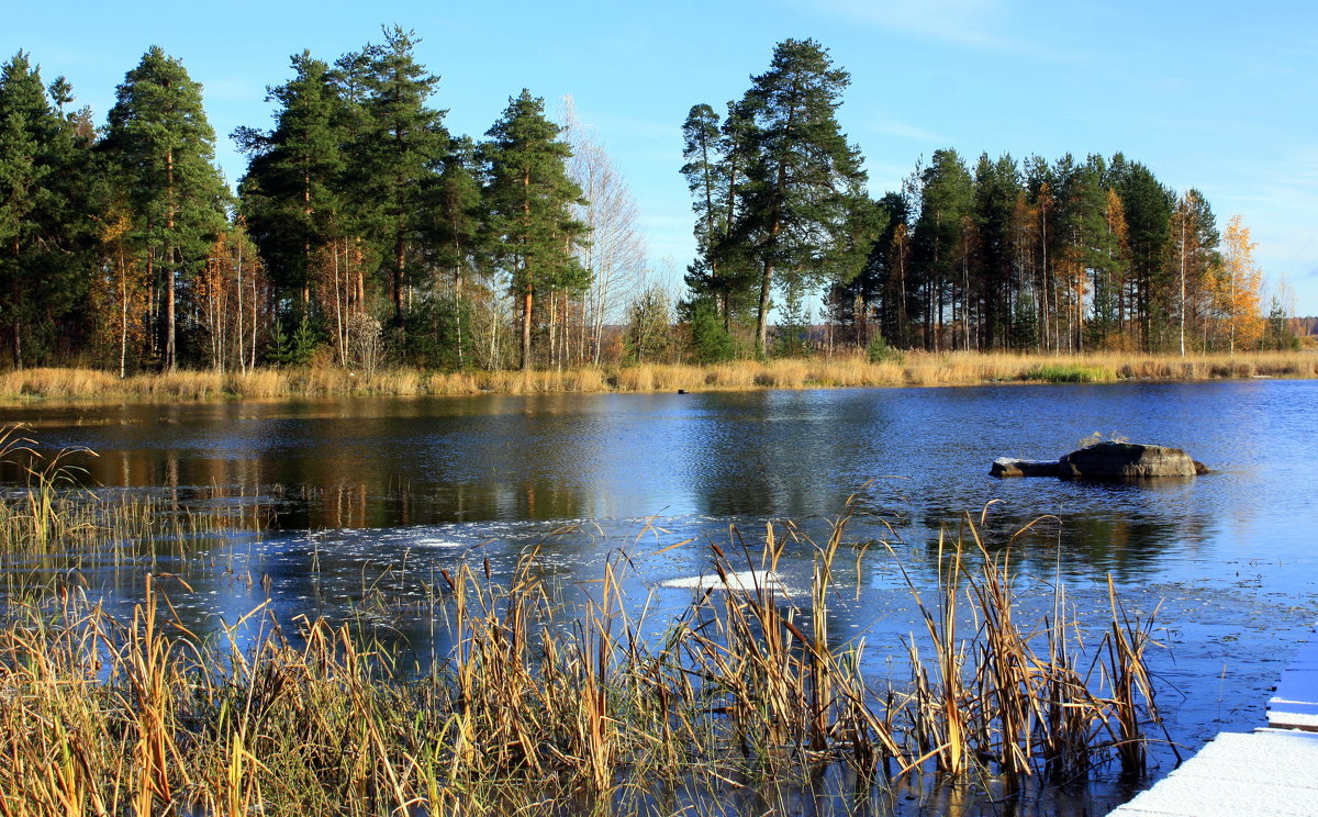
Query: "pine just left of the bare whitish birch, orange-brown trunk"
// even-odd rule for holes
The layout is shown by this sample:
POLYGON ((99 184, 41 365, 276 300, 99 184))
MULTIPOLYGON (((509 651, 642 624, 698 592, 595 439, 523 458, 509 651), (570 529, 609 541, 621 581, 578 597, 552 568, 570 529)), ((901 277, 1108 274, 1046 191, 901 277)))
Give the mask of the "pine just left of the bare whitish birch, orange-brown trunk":
POLYGON ((523 369, 531 366, 536 298, 580 289, 589 279, 573 254, 585 239, 585 227, 572 219, 571 207, 583 199, 581 188, 567 175, 572 150, 559 140, 560 132, 544 117, 544 100, 523 90, 509 99, 484 146, 490 213, 486 235, 519 300, 523 369))

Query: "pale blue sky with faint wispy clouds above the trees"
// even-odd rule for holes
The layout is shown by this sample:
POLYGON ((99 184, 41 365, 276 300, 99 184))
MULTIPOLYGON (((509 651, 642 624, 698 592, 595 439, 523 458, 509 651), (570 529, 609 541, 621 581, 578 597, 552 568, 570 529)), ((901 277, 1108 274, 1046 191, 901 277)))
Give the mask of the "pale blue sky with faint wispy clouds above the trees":
POLYGON ((1176 190, 1199 188, 1219 224, 1240 213, 1264 274, 1285 277, 1318 315, 1318 3, 1201 0, 743 0, 668 3, 71 3, 12 4, 0 58, 28 50, 66 75, 103 123, 115 86, 150 45, 206 87, 229 181, 228 140, 268 127, 266 86, 289 55, 333 59, 414 29, 442 76, 435 105, 481 136, 522 87, 548 108, 571 95, 630 183, 654 265, 691 258, 680 125, 721 108, 774 45, 813 37, 851 74, 840 112, 866 155, 870 190, 898 186, 917 157, 956 148, 1017 158, 1120 150, 1176 190))

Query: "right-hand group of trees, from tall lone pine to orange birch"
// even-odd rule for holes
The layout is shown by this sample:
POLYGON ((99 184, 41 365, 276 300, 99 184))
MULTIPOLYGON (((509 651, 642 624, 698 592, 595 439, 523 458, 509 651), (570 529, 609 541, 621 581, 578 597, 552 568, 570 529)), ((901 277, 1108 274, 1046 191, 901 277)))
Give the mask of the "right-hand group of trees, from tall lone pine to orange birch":
MULTIPOLYGON (((741 324, 770 352, 811 343, 807 290, 824 293, 828 343, 875 349, 1180 352, 1286 341, 1265 320, 1255 244, 1224 235, 1197 190, 1174 192, 1144 165, 1068 154, 971 169, 937 150, 878 200, 837 123, 849 76, 813 41, 778 46, 770 70, 728 103, 691 108, 683 174, 697 258, 684 304, 696 348, 718 354, 741 324)), ((815 340, 815 343, 818 343, 815 340)))

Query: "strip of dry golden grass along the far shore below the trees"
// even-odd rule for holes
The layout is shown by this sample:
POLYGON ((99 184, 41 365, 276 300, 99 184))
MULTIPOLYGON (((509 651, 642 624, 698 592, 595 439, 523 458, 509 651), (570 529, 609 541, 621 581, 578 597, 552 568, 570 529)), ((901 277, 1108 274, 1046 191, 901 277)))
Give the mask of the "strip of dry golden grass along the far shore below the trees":
POLYGON ((336 368, 258 369, 249 373, 173 372, 120 380, 94 369, 25 369, 0 374, 0 402, 261 399, 335 395, 540 394, 556 391, 704 391, 845 386, 965 386, 1015 382, 1115 382, 1318 377, 1318 353, 1251 354, 1097 353, 1085 356, 908 352, 886 362, 863 357, 735 361, 709 366, 643 364, 535 372, 362 374, 336 368))

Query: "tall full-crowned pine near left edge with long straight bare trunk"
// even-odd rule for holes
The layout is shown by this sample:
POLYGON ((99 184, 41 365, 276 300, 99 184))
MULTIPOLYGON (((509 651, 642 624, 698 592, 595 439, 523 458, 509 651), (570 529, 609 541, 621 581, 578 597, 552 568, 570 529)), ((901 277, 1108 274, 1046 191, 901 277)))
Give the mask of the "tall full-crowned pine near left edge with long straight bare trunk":
POLYGON ((128 191, 133 232, 163 300, 162 364, 178 365, 179 278, 206 262, 225 227, 228 190, 215 167, 215 130, 202 86, 183 65, 152 46, 119 86, 104 154, 115 184, 128 191))

